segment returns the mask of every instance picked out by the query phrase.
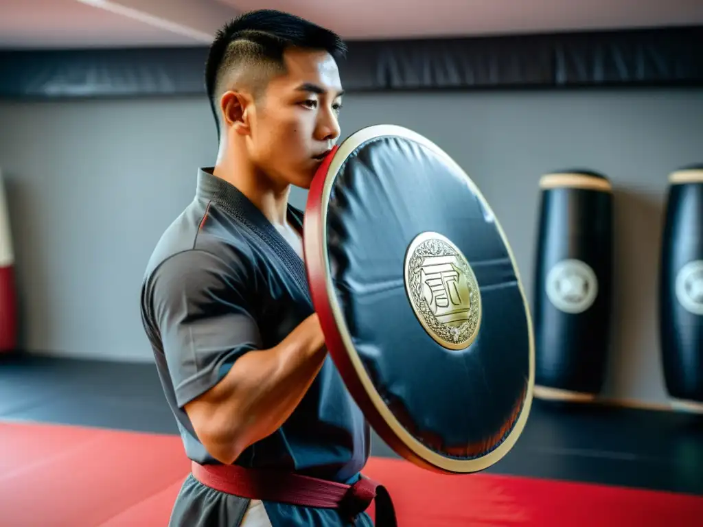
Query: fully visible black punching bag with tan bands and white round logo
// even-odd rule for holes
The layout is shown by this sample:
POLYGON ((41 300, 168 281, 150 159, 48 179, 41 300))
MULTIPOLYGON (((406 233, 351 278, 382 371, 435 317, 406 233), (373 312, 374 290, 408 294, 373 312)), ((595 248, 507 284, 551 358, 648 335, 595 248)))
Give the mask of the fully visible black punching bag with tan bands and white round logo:
POLYGON ((538 398, 591 401, 605 379, 612 313, 612 186, 591 171, 540 180, 533 292, 538 398))

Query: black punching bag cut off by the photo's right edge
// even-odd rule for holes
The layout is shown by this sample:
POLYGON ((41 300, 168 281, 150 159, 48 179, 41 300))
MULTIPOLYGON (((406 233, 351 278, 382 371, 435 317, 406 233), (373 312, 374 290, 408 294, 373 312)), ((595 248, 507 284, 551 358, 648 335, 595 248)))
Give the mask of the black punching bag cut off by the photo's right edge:
POLYGON ((703 165, 669 176, 659 266, 659 338, 671 405, 703 412, 703 165))

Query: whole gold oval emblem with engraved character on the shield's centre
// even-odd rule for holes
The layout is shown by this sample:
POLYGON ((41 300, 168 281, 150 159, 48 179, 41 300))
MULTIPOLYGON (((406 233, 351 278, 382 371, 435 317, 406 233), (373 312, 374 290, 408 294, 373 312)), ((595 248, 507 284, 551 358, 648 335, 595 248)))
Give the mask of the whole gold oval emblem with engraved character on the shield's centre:
POLYGON ((405 288, 415 316, 447 349, 465 349, 481 325, 481 292, 461 251, 438 233, 421 233, 405 256, 405 288))

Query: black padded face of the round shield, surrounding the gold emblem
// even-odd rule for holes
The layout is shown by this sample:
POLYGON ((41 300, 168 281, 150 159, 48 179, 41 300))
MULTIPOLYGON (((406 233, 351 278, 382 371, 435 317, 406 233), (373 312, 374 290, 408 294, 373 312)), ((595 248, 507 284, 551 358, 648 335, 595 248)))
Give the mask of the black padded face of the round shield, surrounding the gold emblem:
MULTIPOLYGON (((396 425, 377 431, 411 460, 439 455, 448 471, 485 468, 515 442, 531 401, 531 322, 507 242, 463 171, 424 143, 382 134, 341 150, 323 199, 328 296, 353 343, 345 353, 356 353, 382 403, 422 448, 408 456, 396 425), (411 304, 406 253, 422 233, 456 245, 479 285, 480 325, 465 349, 433 339, 411 304)), ((358 370, 346 357, 337 365, 367 415, 378 414, 379 401, 368 404, 375 395, 359 394, 350 379, 358 370)))

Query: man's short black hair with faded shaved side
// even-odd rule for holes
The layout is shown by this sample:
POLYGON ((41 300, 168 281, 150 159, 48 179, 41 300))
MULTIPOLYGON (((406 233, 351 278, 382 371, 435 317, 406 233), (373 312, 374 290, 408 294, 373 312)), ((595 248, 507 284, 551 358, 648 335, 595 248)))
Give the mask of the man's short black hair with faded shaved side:
POLYGON ((272 9, 250 11, 228 22, 210 46, 205 65, 205 89, 221 133, 219 99, 227 89, 246 89, 262 96, 269 79, 285 73, 287 48, 327 51, 343 58, 347 46, 339 35, 304 18, 272 9))

